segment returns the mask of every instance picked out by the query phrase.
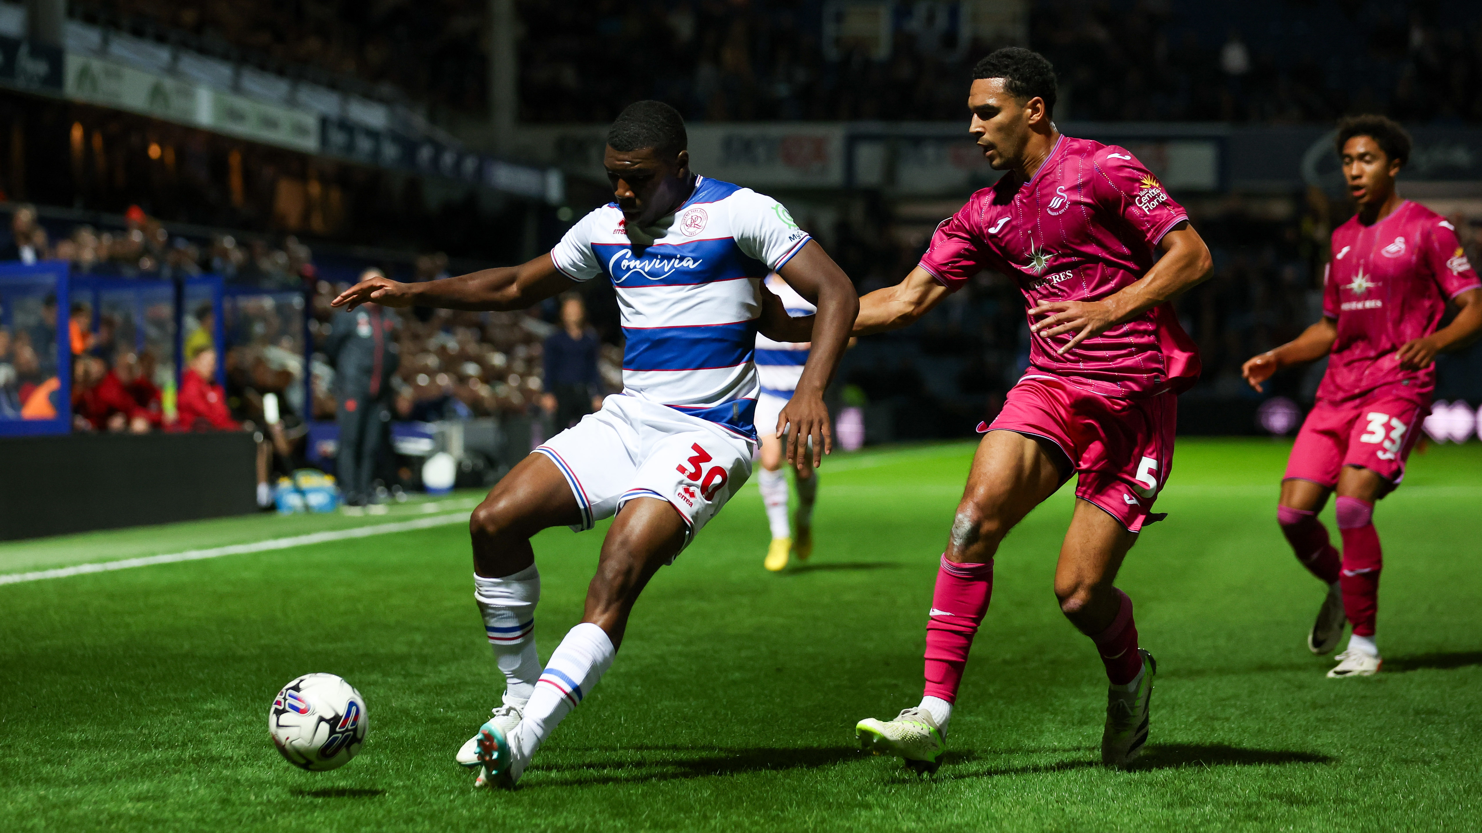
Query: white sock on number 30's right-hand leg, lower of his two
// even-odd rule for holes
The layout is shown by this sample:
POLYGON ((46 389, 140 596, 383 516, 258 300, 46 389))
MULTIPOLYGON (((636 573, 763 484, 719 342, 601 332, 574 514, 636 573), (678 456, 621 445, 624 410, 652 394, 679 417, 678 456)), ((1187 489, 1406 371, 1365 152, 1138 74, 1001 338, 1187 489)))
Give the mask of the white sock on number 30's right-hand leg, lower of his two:
MULTIPOLYGON (((525 716, 514 729, 519 737, 511 740, 520 771, 556 725, 591 694, 602 674, 612 667, 615 654, 608 631, 591 623, 581 623, 566 633, 566 639, 560 640, 551 654, 535 694, 525 706, 525 716)), ((517 778, 519 772, 511 769, 511 775, 517 778)))

